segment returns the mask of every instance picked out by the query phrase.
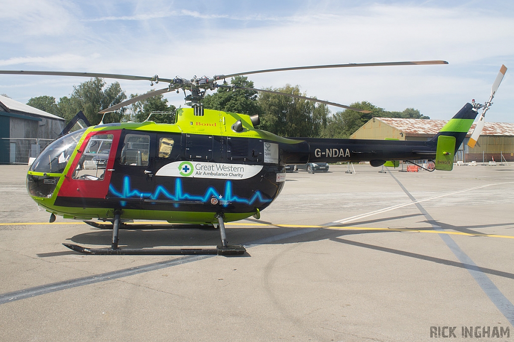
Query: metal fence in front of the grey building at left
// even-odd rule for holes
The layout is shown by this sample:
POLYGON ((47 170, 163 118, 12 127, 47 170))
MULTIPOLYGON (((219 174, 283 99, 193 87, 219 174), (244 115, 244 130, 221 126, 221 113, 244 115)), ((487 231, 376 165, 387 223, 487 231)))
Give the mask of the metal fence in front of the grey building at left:
POLYGON ((0 163, 28 164, 30 157, 37 157, 53 139, 0 138, 0 163))

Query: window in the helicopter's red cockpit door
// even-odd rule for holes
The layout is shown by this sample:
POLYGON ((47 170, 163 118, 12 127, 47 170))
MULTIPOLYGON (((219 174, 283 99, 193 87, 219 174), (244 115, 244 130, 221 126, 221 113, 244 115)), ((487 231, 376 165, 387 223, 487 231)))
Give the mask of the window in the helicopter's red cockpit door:
POLYGON ((102 180, 113 145, 112 134, 91 136, 73 173, 73 179, 102 180))

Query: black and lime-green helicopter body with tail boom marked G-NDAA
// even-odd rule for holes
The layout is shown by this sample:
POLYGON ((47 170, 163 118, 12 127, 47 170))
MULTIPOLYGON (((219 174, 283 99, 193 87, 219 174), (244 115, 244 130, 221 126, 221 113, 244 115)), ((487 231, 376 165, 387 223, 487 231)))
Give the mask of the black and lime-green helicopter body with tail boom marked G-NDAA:
MULTIPOLYGON (((440 134, 462 135, 469 120, 463 121, 460 132, 440 134)), ((232 221, 271 204, 284 186, 286 164, 381 165, 433 158, 435 145, 282 138, 255 129, 248 115, 179 109, 175 124, 107 124, 64 135, 32 164, 27 189, 47 211, 69 218, 109 219, 121 210, 123 219, 212 223, 223 214, 232 221), (234 130, 238 122, 243 129, 234 130)))

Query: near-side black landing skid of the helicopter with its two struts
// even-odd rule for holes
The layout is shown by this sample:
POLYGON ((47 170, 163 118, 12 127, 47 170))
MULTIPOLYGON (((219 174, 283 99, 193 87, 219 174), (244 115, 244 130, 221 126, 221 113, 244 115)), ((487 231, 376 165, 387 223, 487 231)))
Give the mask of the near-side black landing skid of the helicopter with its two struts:
MULTIPOLYGON (((71 250, 83 254, 93 255, 242 255, 246 252, 243 246, 234 245, 229 246, 227 242, 227 235, 225 233, 225 223, 223 221, 223 214, 217 214, 216 219, 219 227, 219 235, 221 236, 222 244, 216 247, 207 248, 119 248, 118 247, 118 233, 120 226, 120 211, 114 212, 113 220, 113 238, 111 241, 111 248, 86 248, 74 244, 63 244, 71 250)), ((94 225, 91 225, 94 226, 94 225)), ((104 226, 104 225, 102 225, 104 226)), ((97 227, 103 228, 105 227, 97 227)))

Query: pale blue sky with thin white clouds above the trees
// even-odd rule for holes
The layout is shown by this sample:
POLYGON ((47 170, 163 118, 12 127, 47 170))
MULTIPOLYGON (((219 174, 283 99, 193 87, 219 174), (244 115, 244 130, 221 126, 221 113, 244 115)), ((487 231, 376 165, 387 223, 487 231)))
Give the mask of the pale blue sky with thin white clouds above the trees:
MULTIPOLYGON (((255 88, 298 85, 307 96, 343 105, 368 101, 389 111, 415 108, 432 119, 449 119, 473 98, 484 103, 504 64, 509 69, 487 120, 514 122, 510 1, 0 0, 0 8, 1 70, 192 78, 442 59, 449 64, 283 71, 248 78, 255 88)), ((87 80, 0 75, 0 94, 22 103, 42 95, 59 99, 87 80)), ((118 82, 127 95, 152 89, 146 81, 118 82)), ((166 98, 184 106, 182 93, 166 98)))

